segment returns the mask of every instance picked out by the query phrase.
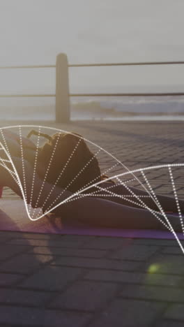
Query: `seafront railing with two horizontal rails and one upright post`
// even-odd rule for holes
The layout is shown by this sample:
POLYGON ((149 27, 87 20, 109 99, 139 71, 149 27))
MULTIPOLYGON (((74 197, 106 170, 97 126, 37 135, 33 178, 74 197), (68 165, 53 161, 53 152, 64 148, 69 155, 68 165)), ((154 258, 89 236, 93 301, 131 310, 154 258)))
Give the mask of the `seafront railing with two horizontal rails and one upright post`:
POLYGON ((56 94, 0 94, 0 98, 33 98, 56 97, 56 122, 70 121, 70 96, 183 96, 184 92, 153 92, 153 93, 76 93, 70 94, 68 68, 70 67, 98 67, 98 66, 148 66, 148 65, 178 65, 184 61, 146 61, 102 64, 68 64, 66 54, 58 54, 56 65, 26 65, 26 66, 0 66, 0 69, 22 68, 56 68, 56 94))

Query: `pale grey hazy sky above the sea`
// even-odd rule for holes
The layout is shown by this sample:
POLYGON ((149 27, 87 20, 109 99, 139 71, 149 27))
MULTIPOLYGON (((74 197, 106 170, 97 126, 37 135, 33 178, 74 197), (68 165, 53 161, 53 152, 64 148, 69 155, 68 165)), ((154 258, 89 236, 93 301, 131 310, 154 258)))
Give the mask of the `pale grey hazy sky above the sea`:
MULTIPOLYGON (((0 0, 0 66, 184 60, 183 13, 183 0, 0 0)), ((184 65, 70 68, 72 91, 131 85, 184 90, 184 65)), ((54 92, 54 70, 1 71, 0 94, 22 90, 54 92)))

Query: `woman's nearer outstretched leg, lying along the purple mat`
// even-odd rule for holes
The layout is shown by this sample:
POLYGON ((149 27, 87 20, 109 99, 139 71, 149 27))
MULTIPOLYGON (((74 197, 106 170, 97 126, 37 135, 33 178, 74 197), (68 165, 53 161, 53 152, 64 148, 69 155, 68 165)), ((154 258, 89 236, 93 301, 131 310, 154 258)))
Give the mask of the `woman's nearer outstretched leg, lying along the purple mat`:
MULTIPOLYGON (((80 198, 77 201, 61 205, 54 212, 56 215, 65 215, 68 220, 70 217, 74 217, 77 221, 91 226, 162 230, 167 230, 168 226, 166 219, 161 215, 155 217, 148 210, 132 208, 100 198, 80 198), (160 218, 167 226, 162 224, 160 218)), ((169 221, 175 231, 181 231, 178 217, 169 216, 169 221)))

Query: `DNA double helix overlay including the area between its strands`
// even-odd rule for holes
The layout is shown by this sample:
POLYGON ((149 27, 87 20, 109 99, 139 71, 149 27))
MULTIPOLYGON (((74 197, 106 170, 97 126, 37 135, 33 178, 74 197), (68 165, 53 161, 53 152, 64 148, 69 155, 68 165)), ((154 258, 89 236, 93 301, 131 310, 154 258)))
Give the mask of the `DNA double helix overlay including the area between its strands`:
POLYGON ((114 154, 75 132, 49 126, 16 125, 0 129, 0 165, 17 185, 32 221, 41 219, 59 205, 86 196, 123 201, 125 205, 149 210, 160 224, 174 234, 184 253, 177 236, 178 228, 174 230, 169 221, 170 214, 164 211, 156 194, 162 176, 162 181, 167 185, 167 194, 175 201, 179 231, 184 235, 184 208, 181 208, 179 201, 183 191, 184 163, 164 163, 143 168, 134 166, 130 170, 114 154), (42 180, 40 189, 36 187, 38 176, 42 180), (52 188, 45 195, 47 182, 52 184, 52 188), (106 184, 104 189, 104 182, 111 183, 106 184), (61 193, 58 193, 59 187, 61 193), (146 194, 137 194, 134 187, 146 194), (53 197, 55 189, 57 196, 53 197), (153 201, 154 210, 153 206, 150 208, 148 205, 148 198, 149 203, 153 201), (43 207, 47 208, 44 212, 43 207), (40 211, 36 208, 40 208, 40 211))

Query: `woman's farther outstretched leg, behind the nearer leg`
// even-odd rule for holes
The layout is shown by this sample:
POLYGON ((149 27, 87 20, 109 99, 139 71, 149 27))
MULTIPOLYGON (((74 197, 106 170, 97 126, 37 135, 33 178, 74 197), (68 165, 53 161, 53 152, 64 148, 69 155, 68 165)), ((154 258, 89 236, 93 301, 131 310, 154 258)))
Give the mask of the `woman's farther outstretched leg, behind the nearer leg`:
MULTIPOLYGON (((109 201, 113 201, 116 203, 120 203, 123 205, 129 205, 134 208, 141 208, 141 202, 138 200, 136 196, 140 196, 139 199, 143 201, 149 208, 152 210, 160 211, 158 205, 153 201, 151 197, 148 196, 146 191, 142 191, 141 189, 136 189, 135 187, 125 187, 120 184, 111 184, 110 183, 102 183, 99 185, 106 191, 99 190, 99 194, 105 194, 105 196, 98 196, 99 198, 107 198, 109 201), (110 186, 110 188, 109 188, 110 186), (112 187, 111 187, 112 186, 112 187), (130 189, 130 191, 129 191, 130 189), (112 196, 114 193, 114 196, 112 196), (116 196, 116 194, 118 196, 116 196), (136 195, 136 196, 135 196, 136 195), (106 197, 107 196, 107 197, 106 197), (108 198, 109 196, 109 198, 108 198), (123 197, 124 196, 124 197, 123 197), (137 203, 137 204, 136 204, 137 203)), ((155 194, 158 202, 160 203, 162 209, 167 212, 178 212, 178 208, 176 205, 176 199, 171 196, 162 196, 160 194, 155 194)), ((153 196, 153 195, 152 195, 153 196)), ((181 212, 184 212, 184 201, 178 199, 178 203, 181 208, 181 212)))

